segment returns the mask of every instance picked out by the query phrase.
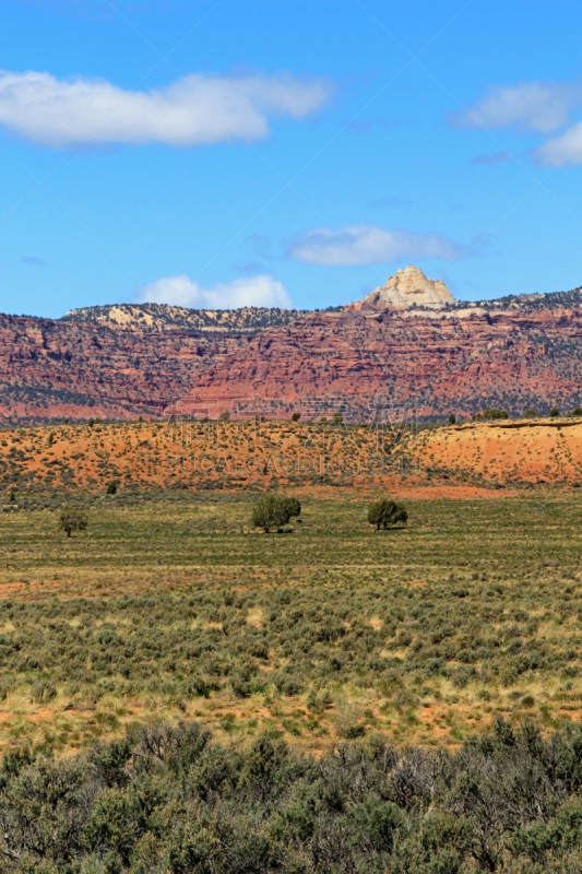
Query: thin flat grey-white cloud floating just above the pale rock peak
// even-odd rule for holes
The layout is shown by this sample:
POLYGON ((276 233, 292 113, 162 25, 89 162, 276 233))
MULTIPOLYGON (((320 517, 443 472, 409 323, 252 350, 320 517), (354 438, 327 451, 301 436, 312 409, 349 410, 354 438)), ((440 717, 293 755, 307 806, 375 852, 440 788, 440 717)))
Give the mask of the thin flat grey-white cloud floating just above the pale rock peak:
POLYGON ((462 247, 442 234, 385 231, 354 225, 341 231, 320 227, 296 237, 288 247, 290 258, 305 264, 381 264, 400 259, 443 258, 454 260, 462 247))

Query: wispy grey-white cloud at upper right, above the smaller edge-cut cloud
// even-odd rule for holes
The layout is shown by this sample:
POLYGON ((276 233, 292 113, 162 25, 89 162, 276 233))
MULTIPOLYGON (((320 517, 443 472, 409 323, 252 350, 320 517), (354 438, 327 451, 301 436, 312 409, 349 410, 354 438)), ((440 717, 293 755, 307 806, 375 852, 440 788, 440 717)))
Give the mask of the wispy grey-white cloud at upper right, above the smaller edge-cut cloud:
POLYGON ((520 82, 491 85, 475 106, 452 113, 453 123, 471 128, 511 128, 549 133, 567 125, 570 114, 582 105, 582 86, 551 82, 520 82))

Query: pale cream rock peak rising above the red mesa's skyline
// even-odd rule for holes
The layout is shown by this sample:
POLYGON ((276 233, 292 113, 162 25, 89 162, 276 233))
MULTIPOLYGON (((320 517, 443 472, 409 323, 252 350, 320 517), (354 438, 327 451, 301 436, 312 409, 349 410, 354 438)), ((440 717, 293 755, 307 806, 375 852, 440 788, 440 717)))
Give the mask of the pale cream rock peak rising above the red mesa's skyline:
POLYGON ((409 307, 446 309, 456 300, 441 280, 429 280, 420 268, 408 264, 406 270, 396 270, 385 285, 379 285, 353 308, 358 310, 403 310, 409 307))

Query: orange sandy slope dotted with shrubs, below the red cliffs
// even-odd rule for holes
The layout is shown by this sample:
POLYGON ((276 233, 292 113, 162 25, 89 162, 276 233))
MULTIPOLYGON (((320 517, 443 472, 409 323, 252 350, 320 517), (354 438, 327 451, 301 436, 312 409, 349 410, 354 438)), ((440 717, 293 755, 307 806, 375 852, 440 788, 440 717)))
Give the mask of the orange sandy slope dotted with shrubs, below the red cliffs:
POLYGON ((0 432, 7 491, 120 486, 582 484, 582 421, 467 424, 379 435, 290 422, 104 423, 0 432))

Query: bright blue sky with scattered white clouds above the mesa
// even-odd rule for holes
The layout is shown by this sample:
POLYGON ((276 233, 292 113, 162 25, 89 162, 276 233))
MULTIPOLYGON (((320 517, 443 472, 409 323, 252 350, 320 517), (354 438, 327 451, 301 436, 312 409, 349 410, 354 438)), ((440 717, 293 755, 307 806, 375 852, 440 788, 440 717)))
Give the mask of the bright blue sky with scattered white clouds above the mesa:
POLYGON ((582 284, 574 2, 0 0, 0 310, 582 284))

